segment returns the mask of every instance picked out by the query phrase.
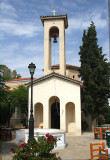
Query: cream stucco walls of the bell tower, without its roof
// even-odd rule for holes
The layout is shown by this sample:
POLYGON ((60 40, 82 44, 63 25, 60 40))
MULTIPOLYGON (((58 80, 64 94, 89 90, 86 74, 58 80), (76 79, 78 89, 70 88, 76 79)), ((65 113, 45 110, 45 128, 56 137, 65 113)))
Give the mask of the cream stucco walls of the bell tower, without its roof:
POLYGON ((52 72, 51 70, 51 43, 49 30, 52 27, 58 27, 59 29, 59 73, 66 74, 66 59, 65 59, 65 25, 64 19, 51 19, 44 21, 44 75, 52 72))

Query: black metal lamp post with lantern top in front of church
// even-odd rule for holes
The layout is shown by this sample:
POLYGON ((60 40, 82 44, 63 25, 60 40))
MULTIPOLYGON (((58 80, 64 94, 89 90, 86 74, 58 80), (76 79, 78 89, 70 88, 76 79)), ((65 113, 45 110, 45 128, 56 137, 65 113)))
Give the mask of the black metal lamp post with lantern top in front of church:
POLYGON ((31 74, 31 108, 30 108, 30 119, 29 119, 29 139, 34 138, 34 117, 33 117, 33 75, 35 71, 35 64, 31 63, 28 66, 31 74))

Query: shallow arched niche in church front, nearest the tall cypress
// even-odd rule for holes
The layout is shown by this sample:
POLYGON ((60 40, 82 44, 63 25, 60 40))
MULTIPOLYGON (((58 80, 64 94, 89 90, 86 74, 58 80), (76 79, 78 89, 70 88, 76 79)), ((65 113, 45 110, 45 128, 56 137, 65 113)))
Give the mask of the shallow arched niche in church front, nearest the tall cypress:
POLYGON ((75 105, 73 102, 66 104, 66 131, 75 132, 75 105))

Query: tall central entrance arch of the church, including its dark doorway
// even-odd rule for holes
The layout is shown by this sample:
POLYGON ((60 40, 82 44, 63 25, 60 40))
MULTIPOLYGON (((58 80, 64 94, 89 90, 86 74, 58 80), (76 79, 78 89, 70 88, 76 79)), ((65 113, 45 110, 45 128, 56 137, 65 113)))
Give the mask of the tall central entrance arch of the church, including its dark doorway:
POLYGON ((60 100, 53 96, 49 100, 50 104, 50 128, 60 129, 60 100))

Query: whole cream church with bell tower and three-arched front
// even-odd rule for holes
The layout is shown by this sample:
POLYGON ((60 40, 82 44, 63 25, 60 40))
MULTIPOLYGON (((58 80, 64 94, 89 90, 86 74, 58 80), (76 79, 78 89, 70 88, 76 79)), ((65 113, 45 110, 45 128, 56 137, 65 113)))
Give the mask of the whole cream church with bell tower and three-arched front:
MULTIPOLYGON (((34 127, 81 135, 81 85, 78 67, 66 65, 67 15, 41 16, 44 27, 44 76, 33 81, 34 127), (52 43, 59 38, 59 64, 52 65, 52 43), (54 41, 52 41, 52 39, 54 41)), ((28 119, 31 86, 29 86, 28 119)))

